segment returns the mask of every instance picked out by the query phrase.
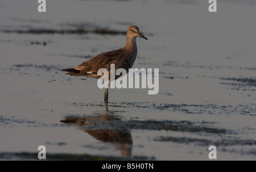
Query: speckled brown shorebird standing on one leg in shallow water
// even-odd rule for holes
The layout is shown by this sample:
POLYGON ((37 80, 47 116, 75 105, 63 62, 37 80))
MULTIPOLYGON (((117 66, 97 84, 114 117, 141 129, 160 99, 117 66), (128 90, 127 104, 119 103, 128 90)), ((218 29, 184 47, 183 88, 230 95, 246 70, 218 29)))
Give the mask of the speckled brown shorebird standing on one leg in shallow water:
MULTIPOLYGON (((63 69, 63 71, 68 72, 68 75, 73 76, 101 78, 102 75, 97 75, 98 70, 100 68, 106 68, 108 71, 110 71, 110 64, 115 64, 115 71, 118 68, 124 68, 126 72, 128 72, 129 68, 133 67, 134 61, 137 57, 136 38, 138 36, 147 40, 147 38, 139 32, 139 28, 136 25, 131 25, 127 29, 125 47, 118 50, 98 54, 92 59, 89 59, 89 61, 83 62, 77 67, 66 68, 63 69)), ((115 76, 115 79, 117 79, 118 77, 119 76, 115 76)), ((110 77, 108 80, 108 84, 110 84, 110 77)), ((106 88, 104 93, 105 102, 108 102, 108 90, 109 88, 106 88)))

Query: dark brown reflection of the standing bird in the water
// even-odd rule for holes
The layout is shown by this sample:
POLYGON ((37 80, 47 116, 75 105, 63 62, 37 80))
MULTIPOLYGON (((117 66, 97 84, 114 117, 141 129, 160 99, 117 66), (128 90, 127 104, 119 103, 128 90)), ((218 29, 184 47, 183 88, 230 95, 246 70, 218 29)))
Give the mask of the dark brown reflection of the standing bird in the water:
POLYGON ((114 117, 113 115, 108 115, 108 105, 106 105, 106 114, 91 116, 91 117, 65 117, 64 120, 60 122, 68 124, 76 124, 79 127, 79 130, 87 132, 89 135, 93 136, 95 139, 103 141, 104 143, 114 143, 118 145, 118 148, 121 149, 121 155, 123 157, 130 157, 131 150, 133 149, 133 138, 129 130, 110 130, 108 128, 104 129, 93 129, 100 127, 102 122, 113 121, 119 122, 120 119, 114 117), (93 128, 89 128, 92 125, 93 128), (83 127, 84 126, 84 127, 83 127))

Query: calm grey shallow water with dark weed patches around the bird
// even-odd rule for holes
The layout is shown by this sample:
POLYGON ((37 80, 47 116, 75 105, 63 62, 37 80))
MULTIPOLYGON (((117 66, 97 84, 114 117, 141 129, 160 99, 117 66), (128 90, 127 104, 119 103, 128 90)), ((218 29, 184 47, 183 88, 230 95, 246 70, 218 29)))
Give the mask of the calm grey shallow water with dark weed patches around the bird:
POLYGON ((0 2, 1 160, 37 160, 39 145, 48 160, 209 160, 210 145, 256 160, 254 1, 37 6, 0 2), (159 93, 110 89, 106 111, 97 80, 61 69, 121 48, 132 24, 148 38, 133 67, 159 68, 159 93))

